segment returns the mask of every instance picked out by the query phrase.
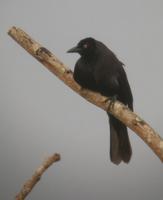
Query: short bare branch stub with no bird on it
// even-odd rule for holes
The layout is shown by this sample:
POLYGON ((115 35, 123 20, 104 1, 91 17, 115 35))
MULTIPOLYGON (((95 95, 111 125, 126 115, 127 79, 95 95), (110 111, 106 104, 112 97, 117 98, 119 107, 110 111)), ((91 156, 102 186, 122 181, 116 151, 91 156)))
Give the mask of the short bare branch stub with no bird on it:
POLYGON ((31 179, 26 181, 23 188, 16 195, 15 200, 24 200, 25 197, 31 192, 36 183, 41 179, 42 174, 54 163, 60 160, 59 154, 54 154, 47 158, 42 165, 34 172, 31 179))

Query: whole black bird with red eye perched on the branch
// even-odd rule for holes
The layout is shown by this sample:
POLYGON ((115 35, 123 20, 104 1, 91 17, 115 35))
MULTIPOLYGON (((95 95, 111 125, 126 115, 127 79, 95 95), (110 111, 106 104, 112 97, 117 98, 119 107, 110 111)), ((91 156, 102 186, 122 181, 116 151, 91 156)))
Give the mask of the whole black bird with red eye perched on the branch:
MULTIPOLYGON (((123 102, 133 110, 133 96, 123 63, 102 42, 93 38, 81 40, 68 53, 81 57, 74 69, 74 79, 83 88, 123 102)), ((130 161, 132 150, 127 127, 108 113, 110 122, 110 159, 113 163, 130 161)))

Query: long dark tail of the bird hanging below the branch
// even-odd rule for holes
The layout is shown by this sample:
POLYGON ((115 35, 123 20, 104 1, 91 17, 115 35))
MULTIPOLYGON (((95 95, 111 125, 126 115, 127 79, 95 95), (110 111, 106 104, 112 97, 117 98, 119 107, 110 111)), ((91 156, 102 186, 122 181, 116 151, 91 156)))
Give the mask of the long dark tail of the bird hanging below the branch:
POLYGON ((121 161, 128 163, 132 149, 128 137, 127 127, 118 119, 108 114, 110 122, 110 159, 114 164, 121 161))

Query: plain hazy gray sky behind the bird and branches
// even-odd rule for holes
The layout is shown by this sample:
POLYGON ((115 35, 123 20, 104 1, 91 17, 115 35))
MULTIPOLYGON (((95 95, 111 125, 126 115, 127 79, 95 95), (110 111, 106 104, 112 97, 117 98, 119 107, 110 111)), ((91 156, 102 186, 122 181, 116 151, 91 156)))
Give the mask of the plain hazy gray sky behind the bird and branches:
POLYGON ((104 42, 126 64, 135 111, 163 136, 162 10, 162 0, 0 1, 0 199, 54 152, 62 160, 29 199, 163 199, 162 164, 147 145, 130 131, 131 162, 112 164, 106 114, 6 34, 21 27, 71 69, 79 56, 69 48, 88 36, 104 42))

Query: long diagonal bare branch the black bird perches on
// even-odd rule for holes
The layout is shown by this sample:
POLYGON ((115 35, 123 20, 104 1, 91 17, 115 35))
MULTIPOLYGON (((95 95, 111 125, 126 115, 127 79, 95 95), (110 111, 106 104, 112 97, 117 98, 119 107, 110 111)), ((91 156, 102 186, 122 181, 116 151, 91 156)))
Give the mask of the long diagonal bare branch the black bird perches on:
POLYGON ((111 105, 109 98, 81 88, 73 79, 73 72, 59 61, 45 47, 34 41, 23 30, 12 27, 8 34, 19 43, 26 51, 40 61, 47 69, 61 79, 66 85, 84 97, 87 101, 95 104, 101 109, 110 112, 117 119, 122 121, 126 126, 132 129, 140 136, 146 144, 155 152, 163 161, 163 140, 143 119, 129 110, 128 107, 116 101, 114 106, 111 105))

